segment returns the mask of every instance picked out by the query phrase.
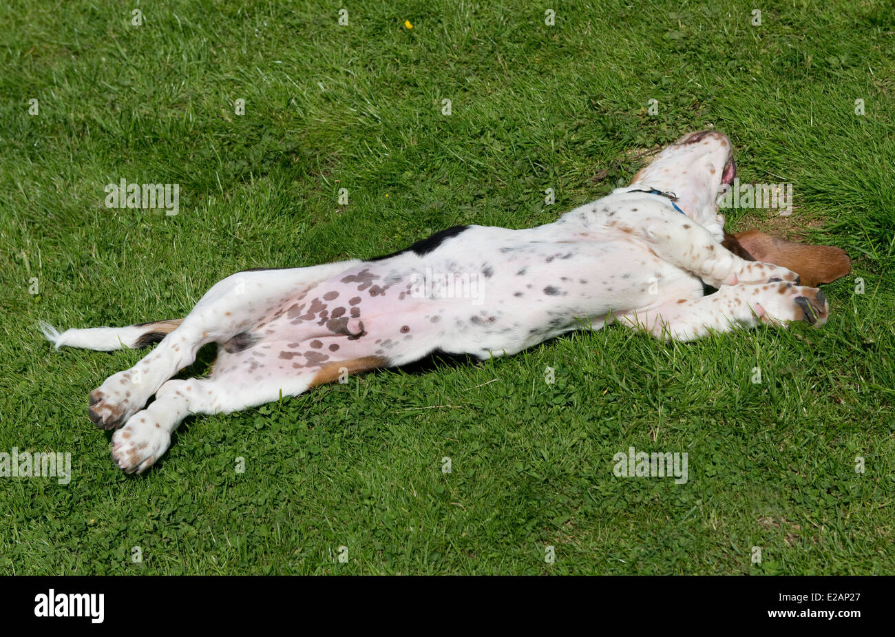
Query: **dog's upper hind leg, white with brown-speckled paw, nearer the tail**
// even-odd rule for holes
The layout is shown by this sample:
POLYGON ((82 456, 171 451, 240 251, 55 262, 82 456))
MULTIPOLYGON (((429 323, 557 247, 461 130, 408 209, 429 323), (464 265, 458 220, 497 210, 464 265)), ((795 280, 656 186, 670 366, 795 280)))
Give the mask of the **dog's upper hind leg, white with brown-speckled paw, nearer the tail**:
POLYGON ((180 369, 196 360, 207 343, 244 346, 245 335, 290 299, 360 261, 311 268, 254 270, 213 285, 175 330, 131 369, 107 378, 90 394, 89 415, 100 429, 117 429, 180 369))

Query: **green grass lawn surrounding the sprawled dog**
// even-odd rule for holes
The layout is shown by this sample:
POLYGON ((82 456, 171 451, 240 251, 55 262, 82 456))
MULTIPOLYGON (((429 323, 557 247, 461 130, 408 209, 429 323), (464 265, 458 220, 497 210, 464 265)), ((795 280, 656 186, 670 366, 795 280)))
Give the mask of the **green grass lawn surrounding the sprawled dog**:
POLYGON ((0 479, 0 573, 895 573, 890 3, 764 3, 761 27, 734 0, 358 0, 344 27, 337 4, 240 4, 141 4, 140 27, 135 3, 0 7, 0 451, 73 465, 67 486, 0 479), (385 370, 187 420, 129 477, 87 396, 141 352, 54 352, 36 328, 179 317, 239 269, 546 223, 708 124, 744 182, 795 184, 791 229, 853 258, 822 329, 610 327, 385 370), (121 178, 179 183, 180 214, 106 208, 121 178), (616 478, 629 446, 686 451, 689 482, 616 478))

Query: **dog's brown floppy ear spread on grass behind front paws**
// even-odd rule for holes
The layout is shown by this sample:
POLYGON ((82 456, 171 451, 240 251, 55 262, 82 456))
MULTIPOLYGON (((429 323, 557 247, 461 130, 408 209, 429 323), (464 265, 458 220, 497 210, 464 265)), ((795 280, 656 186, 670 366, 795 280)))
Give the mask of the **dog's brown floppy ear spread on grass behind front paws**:
POLYGON ((783 241, 758 230, 745 233, 724 233, 723 245, 742 259, 744 252, 754 261, 773 263, 795 272, 801 285, 816 287, 831 283, 851 272, 848 254, 832 245, 805 245, 783 241))

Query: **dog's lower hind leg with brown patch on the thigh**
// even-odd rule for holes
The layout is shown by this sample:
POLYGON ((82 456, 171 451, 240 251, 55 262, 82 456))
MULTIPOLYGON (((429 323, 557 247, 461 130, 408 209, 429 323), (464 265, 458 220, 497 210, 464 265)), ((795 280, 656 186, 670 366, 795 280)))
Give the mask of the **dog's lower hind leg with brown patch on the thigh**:
POLYGON ((211 378, 168 380, 149 407, 133 414, 123 428, 115 431, 112 458, 121 470, 142 473, 166 452, 172 432, 191 413, 238 412, 386 364, 385 359, 368 356, 301 372, 290 368, 263 382, 247 380, 237 367, 225 368, 223 373, 215 369, 211 378))

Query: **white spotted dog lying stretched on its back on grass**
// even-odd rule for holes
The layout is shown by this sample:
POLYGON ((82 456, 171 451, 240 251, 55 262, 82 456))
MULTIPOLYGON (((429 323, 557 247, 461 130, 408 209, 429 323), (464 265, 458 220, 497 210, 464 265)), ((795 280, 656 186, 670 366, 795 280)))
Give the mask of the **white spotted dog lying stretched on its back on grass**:
POLYGON ((56 348, 158 342, 90 394, 90 420, 117 429, 115 463, 139 473, 190 413, 239 411, 432 352, 488 359, 612 322, 681 341, 762 323, 822 325, 828 306, 813 285, 848 273, 848 257, 725 235, 717 200, 736 170, 725 135, 695 132, 631 185, 548 225, 455 226, 376 259, 243 271, 182 319, 41 327, 56 348), (456 281, 474 281, 475 293, 456 281), (208 343, 219 345, 209 376, 172 379, 208 343))

